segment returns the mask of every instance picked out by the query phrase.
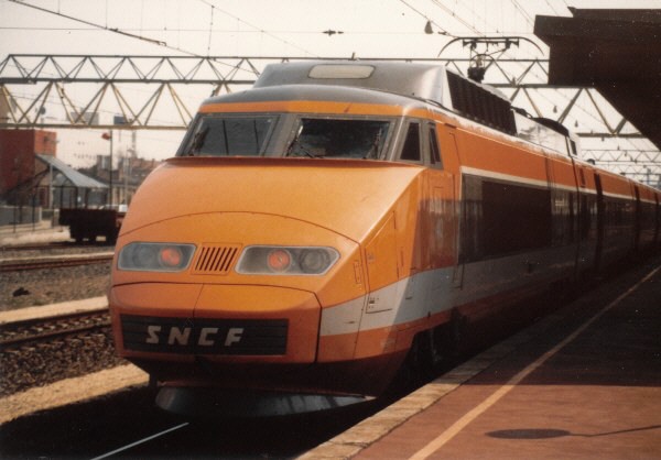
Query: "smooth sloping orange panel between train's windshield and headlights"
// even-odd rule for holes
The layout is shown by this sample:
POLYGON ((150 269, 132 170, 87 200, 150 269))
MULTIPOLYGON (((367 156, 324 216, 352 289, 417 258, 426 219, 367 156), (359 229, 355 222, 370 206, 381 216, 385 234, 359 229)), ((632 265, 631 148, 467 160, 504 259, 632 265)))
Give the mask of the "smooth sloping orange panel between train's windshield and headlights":
POLYGON ((136 194, 121 234, 182 216, 257 212, 359 241, 422 171, 369 161, 325 160, 324 165, 296 158, 167 160, 136 194))

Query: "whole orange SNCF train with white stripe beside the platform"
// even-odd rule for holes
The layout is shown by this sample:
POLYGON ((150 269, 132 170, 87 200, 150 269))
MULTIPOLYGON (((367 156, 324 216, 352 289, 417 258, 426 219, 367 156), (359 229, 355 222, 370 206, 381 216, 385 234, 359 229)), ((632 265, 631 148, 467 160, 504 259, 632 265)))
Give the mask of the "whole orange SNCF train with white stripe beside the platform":
POLYGON ((462 325, 496 328, 506 307, 655 249, 659 199, 443 66, 271 65, 204 101, 137 193, 116 346, 175 413, 365 401, 445 357, 462 325))

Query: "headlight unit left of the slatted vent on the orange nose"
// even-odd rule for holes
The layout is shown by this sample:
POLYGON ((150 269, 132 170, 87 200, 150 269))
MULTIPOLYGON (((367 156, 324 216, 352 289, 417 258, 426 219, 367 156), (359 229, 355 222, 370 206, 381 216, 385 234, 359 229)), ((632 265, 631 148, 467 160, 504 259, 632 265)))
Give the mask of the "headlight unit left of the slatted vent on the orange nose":
POLYGON ((129 243, 119 251, 118 269, 181 272, 188 267, 194 252, 194 244, 129 243))

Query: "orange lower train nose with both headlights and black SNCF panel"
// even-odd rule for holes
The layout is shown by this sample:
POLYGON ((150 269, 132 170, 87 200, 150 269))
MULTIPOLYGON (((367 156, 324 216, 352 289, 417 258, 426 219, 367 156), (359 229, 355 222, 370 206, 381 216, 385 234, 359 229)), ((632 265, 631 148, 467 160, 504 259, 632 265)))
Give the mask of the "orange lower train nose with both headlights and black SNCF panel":
POLYGON ((213 212, 141 227, 118 248, 117 348, 170 379, 169 362, 314 362, 324 286, 356 245, 291 218, 213 212))

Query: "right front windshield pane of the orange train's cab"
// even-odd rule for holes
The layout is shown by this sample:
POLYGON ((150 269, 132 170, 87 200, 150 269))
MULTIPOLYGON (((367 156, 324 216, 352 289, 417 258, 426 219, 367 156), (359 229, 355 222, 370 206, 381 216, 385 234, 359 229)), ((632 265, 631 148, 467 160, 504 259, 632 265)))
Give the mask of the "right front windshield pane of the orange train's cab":
POLYGON ((389 121, 302 118, 286 156, 380 158, 389 121))

